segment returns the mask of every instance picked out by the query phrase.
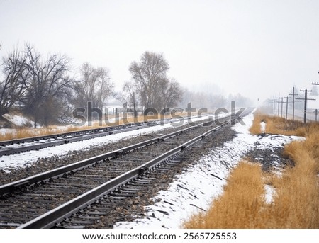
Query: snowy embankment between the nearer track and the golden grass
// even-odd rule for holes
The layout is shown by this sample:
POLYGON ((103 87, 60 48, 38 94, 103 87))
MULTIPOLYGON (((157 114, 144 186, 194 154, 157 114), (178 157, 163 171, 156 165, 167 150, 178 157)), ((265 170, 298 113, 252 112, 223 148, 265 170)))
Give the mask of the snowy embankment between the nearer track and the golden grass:
MULTIPOLYGON (((168 191, 159 191, 153 201, 155 205, 147 206, 147 215, 133 222, 119 222, 114 228, 172 228, 181 227, 184 220, 193 213, 207 210, 211 201, 223 193, 230 171, 240 159, 253 149, 274 149, 284 147, 300 137, 251 135, 248 129, 252 125, 253 114, 247 115, 245 125, 237 123, 233 129, 237 136, 223 147, 211 149, 198 163, 189 167, 183 174, 176 176, 168 191)), ((279 159, 279 158, 278 158, 279 159)), ((275 159, 276 160, 276 159, 275 159)), ((274 161, 274 166, 280 164, 274 161)), ((272 200, 274 190, 265 186, 267 203, 272 200)))

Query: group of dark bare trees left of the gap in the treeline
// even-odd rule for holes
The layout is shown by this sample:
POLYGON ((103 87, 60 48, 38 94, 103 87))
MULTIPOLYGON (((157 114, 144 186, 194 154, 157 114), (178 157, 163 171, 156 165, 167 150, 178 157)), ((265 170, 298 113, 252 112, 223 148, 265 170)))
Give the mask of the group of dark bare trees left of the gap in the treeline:
POLYGON ((0 116, 18 109, 36 127, 65 122, 74 107, 85 108, 88 101, 102 108, 114 86, 108 69, 84 63, 77 73, 79 79, 70 77, 71 71, 65 55, 45 58, 30 45, 14 50, 3 58, 0 116))

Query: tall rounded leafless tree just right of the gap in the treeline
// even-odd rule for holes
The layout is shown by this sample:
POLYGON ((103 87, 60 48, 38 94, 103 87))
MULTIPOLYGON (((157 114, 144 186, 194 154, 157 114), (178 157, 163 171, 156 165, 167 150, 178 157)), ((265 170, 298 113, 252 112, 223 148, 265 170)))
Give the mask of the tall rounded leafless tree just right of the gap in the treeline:
POLYGON ((132 62, 129 71, 134 81, 136 94, 144 108, 175 106, 181 101, 182 89, 174 79, 167 77, 169 64, 162 54, 144 52, 140 62, 132 62))

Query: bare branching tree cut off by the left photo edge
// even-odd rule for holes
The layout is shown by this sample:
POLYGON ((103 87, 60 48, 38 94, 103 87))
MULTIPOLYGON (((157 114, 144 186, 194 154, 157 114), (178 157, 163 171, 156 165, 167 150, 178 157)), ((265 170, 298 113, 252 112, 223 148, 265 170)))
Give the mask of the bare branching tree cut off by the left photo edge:
POLYGON ((26 69, 27 55, 13 50, 3 59, 4 80, 0 82, 0 116, 11 111, 25 92, 25 81, 28 78, 26 69))

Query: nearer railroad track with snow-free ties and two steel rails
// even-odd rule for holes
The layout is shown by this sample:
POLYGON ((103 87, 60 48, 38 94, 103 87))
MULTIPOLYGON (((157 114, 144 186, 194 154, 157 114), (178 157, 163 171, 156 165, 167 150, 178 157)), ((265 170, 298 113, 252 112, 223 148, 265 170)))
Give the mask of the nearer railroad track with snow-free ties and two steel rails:
POLYGON ((208 121, 0 186, 0 228, 94 227, 230 121, 215 128, 208 121))

